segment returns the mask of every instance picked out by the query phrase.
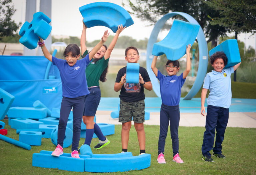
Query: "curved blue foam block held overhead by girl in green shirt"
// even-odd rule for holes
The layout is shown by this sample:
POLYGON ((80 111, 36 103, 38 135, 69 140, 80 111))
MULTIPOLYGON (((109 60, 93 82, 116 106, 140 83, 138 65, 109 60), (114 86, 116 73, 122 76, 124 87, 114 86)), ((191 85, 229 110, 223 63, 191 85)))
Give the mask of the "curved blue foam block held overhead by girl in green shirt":
POLYGON ((105 26, 114 33, 118 25, 128 27, 134 24, 131 15, 121 6, 110 2, 94 2, 79 7, 84 24, 90 28, 93 26, 105 26))

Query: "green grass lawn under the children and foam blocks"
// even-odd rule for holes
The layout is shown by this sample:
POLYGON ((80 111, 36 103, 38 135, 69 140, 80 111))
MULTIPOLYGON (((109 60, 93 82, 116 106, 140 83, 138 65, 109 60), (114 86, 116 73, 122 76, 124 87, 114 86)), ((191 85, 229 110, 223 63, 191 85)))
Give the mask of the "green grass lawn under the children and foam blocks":
MULTIPOLYGON (((3 120, 8 129, 6 136, 19 139, 16 130, 10 128, 8 120, 3 120)), ((165 144, 166 164, 157 163, 157 148, 159 126, 145 125, 146 132, 146 153, 151 154, 151 166, 140 171, 105 173, 105 174, 256 174, 256 128, 232 128, 226 129, 223 141, 223 154, 226 159, 217 159, 215 162, 204 162, 201 160, 201 145, 203 141, 204 127, 179 127, 179 152, 184 164, 177 164, 172 161, 172 142, 170 131, 165 144)), ((111 141, 109 145, 94 150, 93 153, 113 154, 120 153, 121 147, 121 125, 115 125, 115 134, 107 136, 111 141)), ((79 146, 84 142, 81 138, 79 146)), ((98 139, 94 138, 91 147, 96 145, 98 139)), ((53 151, 55 146, 50 139, 42 138, 41 146, 32 146, 26 150, 5 141, 0 140, 0 174, 96 174, 88 172, 70 172, 58 169, 48 169, 32 166, 32 154, 41 150, 53 151)), ((134 156, 139 154, 137 134, 132 126, 128 151, 134 156)), ((64 152, 71 153, 71 146, 64 148, 64 152)), ((102 173, 101 173, 102 174, 102 173)))

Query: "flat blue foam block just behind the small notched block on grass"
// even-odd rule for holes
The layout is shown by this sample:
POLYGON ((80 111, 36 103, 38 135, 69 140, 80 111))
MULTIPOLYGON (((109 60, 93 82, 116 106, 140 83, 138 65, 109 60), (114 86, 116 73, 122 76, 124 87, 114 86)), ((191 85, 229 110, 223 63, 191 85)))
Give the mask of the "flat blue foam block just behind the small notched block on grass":
POLYGON ((11 119, 11 128, 13 129, 38 129, 39 124, 43 124, 43 122, 32 120, 29 118, 11 119))

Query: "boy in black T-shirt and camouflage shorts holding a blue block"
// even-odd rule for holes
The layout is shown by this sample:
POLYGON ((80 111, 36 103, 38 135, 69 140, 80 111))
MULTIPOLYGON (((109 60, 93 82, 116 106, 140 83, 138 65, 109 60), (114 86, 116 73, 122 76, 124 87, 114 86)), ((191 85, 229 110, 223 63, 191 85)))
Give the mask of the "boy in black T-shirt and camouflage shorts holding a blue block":
MULTIPOLYGON (((135 47, 128 47, 125 50, 125 60, 128 63, 137 63, 140 59, 139 52, 135 47)), ((144 88, 152 90, 152 84, 145 68, 140 67, 139 83, 126 83, 126 67, 118 71, 114 90, 118 92, 120 89, 120 111, 119 122, 122 122, 122 152, 127 152, 129 132, 132 125, 132 118, 134 127, 137 131, 140 155, 145 154, 145 131, 143 122, 145 121, 145 94, 144 88)))

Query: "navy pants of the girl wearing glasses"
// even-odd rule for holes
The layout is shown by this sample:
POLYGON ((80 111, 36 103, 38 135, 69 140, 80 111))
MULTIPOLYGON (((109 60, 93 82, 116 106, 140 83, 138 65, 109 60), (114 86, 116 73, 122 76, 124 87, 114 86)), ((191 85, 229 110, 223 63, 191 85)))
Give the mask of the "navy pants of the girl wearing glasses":
POLYGON ((170 122, 173 156, 179 153, 178 128, 180 123, 180 107, 168 106, 162 103, 160 110, 160 133, 158 140, 158 154, 164 153, 165 139, 170 122))

